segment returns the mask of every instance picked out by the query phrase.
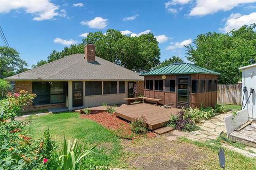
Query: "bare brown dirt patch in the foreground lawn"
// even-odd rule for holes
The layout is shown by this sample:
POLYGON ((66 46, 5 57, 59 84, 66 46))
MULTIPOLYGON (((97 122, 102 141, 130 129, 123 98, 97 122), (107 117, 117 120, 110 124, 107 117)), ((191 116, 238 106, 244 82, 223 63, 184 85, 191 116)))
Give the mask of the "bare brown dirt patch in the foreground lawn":
POLYGON ((169 141, 165 135, 138 141, 123 141, 127 163, 134 169, 188 169, 206 155, 195 145, 169 141))

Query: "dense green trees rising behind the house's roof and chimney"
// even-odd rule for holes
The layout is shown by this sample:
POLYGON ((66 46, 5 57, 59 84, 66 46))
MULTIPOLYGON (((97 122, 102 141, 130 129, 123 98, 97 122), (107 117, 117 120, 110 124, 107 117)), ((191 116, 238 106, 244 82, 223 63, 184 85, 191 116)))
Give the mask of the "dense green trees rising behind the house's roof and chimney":
POLYGON ((55 50, 48 62, 71 54, 84 54, 84 45, 93 43, 96 55, 136 72, 146 72, 159 64, 160 49, 152 33, 139 37, 124 36, 118 30, 109 29, 106 34, 100 31, 90 32, 83 43, 65 47, 61 52, 55 50))

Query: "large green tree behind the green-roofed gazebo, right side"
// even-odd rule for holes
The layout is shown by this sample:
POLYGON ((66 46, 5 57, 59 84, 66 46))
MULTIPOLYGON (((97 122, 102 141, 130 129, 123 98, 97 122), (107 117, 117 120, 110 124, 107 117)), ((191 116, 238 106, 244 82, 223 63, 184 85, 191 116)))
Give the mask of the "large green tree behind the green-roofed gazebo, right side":
POLYGON ((220 84, 236 84, 241 80, 239 67, 256 62, 255 24, 244 25, 229 33, 207 32, 186 46, 187 58, 198 66, 217 71, 220 84))

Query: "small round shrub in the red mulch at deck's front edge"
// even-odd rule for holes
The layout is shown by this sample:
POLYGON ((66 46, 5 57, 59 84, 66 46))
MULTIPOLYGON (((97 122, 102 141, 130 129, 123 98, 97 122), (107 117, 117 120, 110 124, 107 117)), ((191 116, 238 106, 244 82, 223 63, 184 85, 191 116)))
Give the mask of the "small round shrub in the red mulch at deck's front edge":
POLYGON ((131 122, 131 130, 136 134, 146 134, 148 131, 146 118, 145 116, 134 117, 131 122))

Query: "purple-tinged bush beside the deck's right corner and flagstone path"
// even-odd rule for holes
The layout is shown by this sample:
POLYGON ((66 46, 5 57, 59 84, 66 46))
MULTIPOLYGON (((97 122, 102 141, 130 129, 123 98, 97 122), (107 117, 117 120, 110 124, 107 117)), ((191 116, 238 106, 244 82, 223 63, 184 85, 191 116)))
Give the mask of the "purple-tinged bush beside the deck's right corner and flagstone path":
POLYGON ((184 111, 180 111, 178 115, 171 115, 170 121, 167 123, 167 126, 171 126, 179 131, 196 131, 200 128, 188 117, 185 116, 184 111))

